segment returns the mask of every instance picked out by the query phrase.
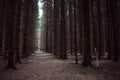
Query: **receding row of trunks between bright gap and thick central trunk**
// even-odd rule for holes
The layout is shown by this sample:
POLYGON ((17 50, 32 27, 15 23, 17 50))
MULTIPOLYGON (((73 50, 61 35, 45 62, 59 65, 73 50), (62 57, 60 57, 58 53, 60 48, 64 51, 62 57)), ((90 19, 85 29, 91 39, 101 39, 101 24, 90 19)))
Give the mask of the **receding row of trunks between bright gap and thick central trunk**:
POLYGON ((46 52, 54 53, 56 57, 67 59, 66 34, 66 1, 45 1, 45 47, 46 52), (54 3, 54 7, 52 7, 54 3), (59 6, 59 7, 58 7, 59 6), (54 11, 53 11, 54 10, 54 11), (51 13, 54 13, 52 15, 51 13), (58 17, 58 18, 56 18, 58 17), (53 26, 53 27, 52 27, 53 26), (59 30, 58 30, 59 29, 59 30))

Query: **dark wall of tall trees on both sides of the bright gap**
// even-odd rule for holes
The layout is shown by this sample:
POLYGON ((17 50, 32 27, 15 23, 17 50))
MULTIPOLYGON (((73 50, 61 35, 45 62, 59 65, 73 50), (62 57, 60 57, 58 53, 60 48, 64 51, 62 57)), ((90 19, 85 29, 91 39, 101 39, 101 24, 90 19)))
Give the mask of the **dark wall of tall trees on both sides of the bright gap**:
MULTIPOLYGON (((41 51, 57 58, 119 61, 120 0, 43 0, 41 51)), ((37 50, 37 0, 0 0, 0 56, 7 69, 37 50)))

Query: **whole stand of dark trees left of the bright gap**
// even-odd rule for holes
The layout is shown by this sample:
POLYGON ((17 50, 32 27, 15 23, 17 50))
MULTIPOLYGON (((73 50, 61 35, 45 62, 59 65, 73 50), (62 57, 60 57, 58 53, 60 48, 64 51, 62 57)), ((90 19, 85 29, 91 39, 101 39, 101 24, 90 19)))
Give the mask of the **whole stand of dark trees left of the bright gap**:
POLYGON ((34 0, 0 1, 2 10, 0 47, 1 55, 8 62, 6 69, 17 69, 16 62, 21 63, 22 56, 26 57, 35 51, 34 29, 38 17, 37 2, 34 0))

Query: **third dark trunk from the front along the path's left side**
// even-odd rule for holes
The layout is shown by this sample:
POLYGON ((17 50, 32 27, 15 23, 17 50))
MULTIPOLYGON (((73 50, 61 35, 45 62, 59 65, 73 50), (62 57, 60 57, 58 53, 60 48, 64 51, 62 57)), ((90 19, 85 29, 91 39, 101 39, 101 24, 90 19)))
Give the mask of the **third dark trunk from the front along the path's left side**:
POLYGON ((28 56, 28 53, 27 53, 27 50, 28 49, 28 30, 29 30, 29 19, 30 19, 30 1, 29 0, 25 0, 24 1, 24 27, 23 27, 23 38, 24 38, 24 41, 23 41, 23 57, 27 57, 28 56))

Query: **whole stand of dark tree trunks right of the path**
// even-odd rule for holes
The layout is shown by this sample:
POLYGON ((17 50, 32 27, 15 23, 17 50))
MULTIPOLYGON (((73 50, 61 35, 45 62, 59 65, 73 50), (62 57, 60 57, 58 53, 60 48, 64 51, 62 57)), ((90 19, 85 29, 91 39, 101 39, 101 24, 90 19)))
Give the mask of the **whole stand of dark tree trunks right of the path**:
MULTIPOLYGON (((75 62, 78 63, 77 54, 80 52, 83 54, 84 66, 91 66, 92 57, 95 59, 98 57, 99 60, 107 53, 108 58, 116 59, 114 52, 117 50, 114 49, 117 49, 115 46, 119 48, 119 45, 116 45, 114 41, 119 42, 115 37, 119 34, 116 29, 119 29, 113 28, 113 24, 117 25, 115 22, 119 20, 116 18, 117 8, 114 9, 117 7, 115 2, 110 0, 54 0, 53 4, 54 20, 50 20, 54 22, 53 39, 51 39, 54 42, 52 43, 54 55, 65 58, 64 54, 67 56, 69 52, 71 55, 74 54, 75 62)), ((48 13, 51 12, 48 11, 48 13)), ((47 16, 50 16, 49 14, 47 16)), ((47 24, 51 25, 51 23, 47 24)), ((50 32, 50 29, 47 31, 50 32)), ((50 37, 46 35, 46 41, 49 39, 50 37)), ((46 47, 50 45, 45 44, 46 47)))

